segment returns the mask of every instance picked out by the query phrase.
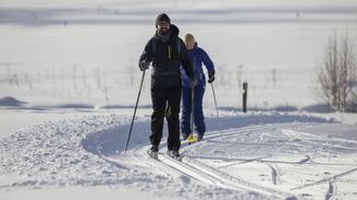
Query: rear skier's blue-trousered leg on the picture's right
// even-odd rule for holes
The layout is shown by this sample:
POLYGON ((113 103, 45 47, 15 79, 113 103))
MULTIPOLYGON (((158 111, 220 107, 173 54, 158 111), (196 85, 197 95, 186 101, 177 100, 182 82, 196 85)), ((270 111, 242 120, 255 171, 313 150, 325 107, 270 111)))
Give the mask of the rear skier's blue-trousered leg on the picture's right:
POLYGON ((194 121, 195 130, 198 138, 202 138, 206 133, 205 116, 202 110, 202 100, 205 95, 205 87, 195 87, 194 95, 194 121))

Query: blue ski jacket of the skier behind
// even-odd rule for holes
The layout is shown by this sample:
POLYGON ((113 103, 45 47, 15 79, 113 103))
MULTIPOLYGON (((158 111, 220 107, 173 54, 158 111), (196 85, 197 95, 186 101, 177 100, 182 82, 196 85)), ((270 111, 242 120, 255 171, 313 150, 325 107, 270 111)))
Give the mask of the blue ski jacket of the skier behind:
MULTIPOLYGON (((195 43, 195 48, 192 50, 188 50, 188 55, 190 59, 190 62, 193 63, 194 67, 194 75, 196 79, 198 80, 198 86, 205 87, 206 86, 206 76, 202 71, 202 63, 205 64, 208 74, 214 75, 214 65, 207 52, 199 48, 197 46, 197 42, 195 43)), ((186 72, 183 71, 183 67, 181 67, 181 73, 182 73, 182 86, 186 88, 190 88, 189 80, 187 77, 186 72)))

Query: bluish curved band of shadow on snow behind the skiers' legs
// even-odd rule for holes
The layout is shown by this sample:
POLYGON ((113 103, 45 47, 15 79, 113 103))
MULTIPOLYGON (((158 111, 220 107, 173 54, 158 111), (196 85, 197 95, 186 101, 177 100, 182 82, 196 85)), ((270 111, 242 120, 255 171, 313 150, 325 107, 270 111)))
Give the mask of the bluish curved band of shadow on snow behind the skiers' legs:
MULTIPOLYGON (((137 118, 140 120, 140 118, 137 118)), ((220 126, 217 117, 206 117, 207 132, 219 130, 220 126)), ((305 116, 305 115, 291 115, 281 113, 250 113, 247 115, 225 116, 221 117, 223 129, 239 128, 251 125, 263 124, 282 124, 282 123, 331 123, 321 117, 305 116)), ((163 128, 163 138, 167 139, 168 130, 167 125, 163 128)), ((110 155, 118 154, 124 151, 130 124, 113 127, 111 129, 103 129, 82 140, 83 147, 91 153, 110 155)), ((134 123, 128 150, 149 143, 150 136, 150 118, 140 120, 134 123)))

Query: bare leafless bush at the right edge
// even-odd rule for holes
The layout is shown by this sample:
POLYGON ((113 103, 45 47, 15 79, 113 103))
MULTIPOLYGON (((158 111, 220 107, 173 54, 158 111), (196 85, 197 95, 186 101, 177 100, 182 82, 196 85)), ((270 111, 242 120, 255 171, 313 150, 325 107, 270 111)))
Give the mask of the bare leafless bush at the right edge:
POLYGON ((357 62, 355 46, 346 33, 329 37, 323 64, 318 68, 318 84, 323 99, 337 111, 356 111, 357 62))

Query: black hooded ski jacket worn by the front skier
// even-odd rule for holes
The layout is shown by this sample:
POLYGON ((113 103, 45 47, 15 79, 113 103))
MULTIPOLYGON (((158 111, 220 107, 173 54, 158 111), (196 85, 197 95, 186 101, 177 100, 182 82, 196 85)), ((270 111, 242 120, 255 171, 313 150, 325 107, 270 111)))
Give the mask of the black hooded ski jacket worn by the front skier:
POLYGON ((170 25, 171 37, 165 42, 157 34, 146 43, 139 59, 152 62, 151 87, 182 87, 182 65, 189 78, 194 78, 193 65, 183 40, 178 37, 178 28, 170 25))

